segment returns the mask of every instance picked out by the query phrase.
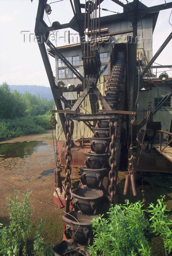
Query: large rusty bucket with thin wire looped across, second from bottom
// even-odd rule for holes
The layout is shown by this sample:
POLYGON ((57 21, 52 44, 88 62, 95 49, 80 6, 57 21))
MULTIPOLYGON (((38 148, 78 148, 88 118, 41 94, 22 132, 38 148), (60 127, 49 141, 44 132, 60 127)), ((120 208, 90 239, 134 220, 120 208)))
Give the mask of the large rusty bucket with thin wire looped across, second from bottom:
POLYGON ((98 215, 87 216, 76 211, 70 211, 62 216, 65 221, 65 236, 72 238, 74 244, 88 245, 91 240, 92 219, 98 215))

